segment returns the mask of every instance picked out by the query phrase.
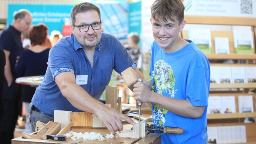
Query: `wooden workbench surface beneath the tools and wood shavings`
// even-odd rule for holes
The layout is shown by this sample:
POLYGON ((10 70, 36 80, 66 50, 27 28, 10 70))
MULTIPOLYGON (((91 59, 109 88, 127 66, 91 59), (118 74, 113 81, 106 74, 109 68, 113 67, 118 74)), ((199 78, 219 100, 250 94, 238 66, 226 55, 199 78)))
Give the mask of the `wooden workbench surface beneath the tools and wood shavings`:
MULTIPOLYGON (((135 120, 135 119, 134 119, 135 120)), ((135 120, 137 122, 137 120, 135 120)), ((131 130, 132 125, 129 123, 123 124, 124 130, 131 130)), ((109 134, 107 129, 97 129, 97 128, 72 128, 71 131, 73 132, 95 132, 100 133, 101 135, 109 134)), ((68 132, 67 132, 68 133, 68 132)), ((132 133, 132 130, 131 130, 132 133)), ((106 138, 104 137, 104 141, 99 140, 88 140, 85 142, 81 142, 79 144, 161 144, 161 135, 150 133, 146 137, 139 139, 139 138, 130 138, 130 137, 119 137, 119 133, 114 136, 114 138, 106 138)), ((12 144, 72 144, 75 142, 79 142, 84 140, 83 138, 76 139, 76 141, 72 140, 71 138, 67 138, 66 141, 54 141, 54 140, 41 140, 41 139, 25 139, 22 136, 12 139, 12 144)))

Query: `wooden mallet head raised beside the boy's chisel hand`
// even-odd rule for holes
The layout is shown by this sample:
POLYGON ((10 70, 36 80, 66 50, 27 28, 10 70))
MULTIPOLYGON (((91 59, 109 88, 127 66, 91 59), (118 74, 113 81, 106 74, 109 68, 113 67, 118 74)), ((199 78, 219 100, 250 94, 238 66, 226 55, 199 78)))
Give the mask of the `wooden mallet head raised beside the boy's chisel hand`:
POLYGON ((122 78, 128 88, 133 91, 133 85, 138 82, 138 76, 133 68, 129 67, 121 72, 122 78))

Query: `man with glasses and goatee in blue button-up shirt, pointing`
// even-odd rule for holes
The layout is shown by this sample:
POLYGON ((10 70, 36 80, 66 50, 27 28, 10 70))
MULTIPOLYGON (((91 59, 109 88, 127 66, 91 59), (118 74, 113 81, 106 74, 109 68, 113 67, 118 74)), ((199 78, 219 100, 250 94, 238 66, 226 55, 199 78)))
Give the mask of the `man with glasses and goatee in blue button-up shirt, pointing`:
POLYGON ((135 122, 99 101, 112 71, 119 74, 136 62, 114 36, 103 33, 101 14, 91 3, 75 5, 71 10, 72 34, 59 40, 50 50, 45 78, 31 103, 31 124, 54 120, 54 110, 89 112, 98 116, 115 134, 123 130, 120 120, 135 122), (44 121, 43 121, 44 120, 44 121))

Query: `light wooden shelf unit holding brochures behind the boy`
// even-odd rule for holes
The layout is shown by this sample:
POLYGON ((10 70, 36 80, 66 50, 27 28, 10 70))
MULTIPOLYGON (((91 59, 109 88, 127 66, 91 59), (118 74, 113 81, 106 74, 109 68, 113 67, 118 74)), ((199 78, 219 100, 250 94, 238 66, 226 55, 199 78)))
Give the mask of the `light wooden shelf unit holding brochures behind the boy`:
MULTIPOLYGON (((242 25, 251 26, 254 54, 240 55, 235 54, 234 41, 232 31, 211 31, 212 39, 212 53, 205 54, 209 59, 211 66, 241 66, 256 67, 256 54, 255 54, 255 37, 256 37, 256 17, 225 17, 225 16, 195 16, 185 15, 184 20, 186 24, 212 24, 212 25, 242 25), (215 37, 228 37, 230 54, 216 54, 214 38, 215 37), (237 60, 238 63, 224 64, 223 60, 237 60), (239 63, 240 60, 245 60, 245 63, 239 63)), ((183 39, 188 39, 188 32, 183 30, 181 32, 183 39)), ((229 84, 210 84, 210 96, 235 96, 236 113, 229 114, 207 114, 208 126, 246 126, 247 143, 236 144, 255 144, 256 143, 256 123, 244 123, 245 118, 256 117, 255 107, 254 112, 239 113, 238 111, 238 95, 253 95, 253 104, 255 106, 255 94, 248 94, 250 89, 256 88, 256 83, 229 83, 229 84)))

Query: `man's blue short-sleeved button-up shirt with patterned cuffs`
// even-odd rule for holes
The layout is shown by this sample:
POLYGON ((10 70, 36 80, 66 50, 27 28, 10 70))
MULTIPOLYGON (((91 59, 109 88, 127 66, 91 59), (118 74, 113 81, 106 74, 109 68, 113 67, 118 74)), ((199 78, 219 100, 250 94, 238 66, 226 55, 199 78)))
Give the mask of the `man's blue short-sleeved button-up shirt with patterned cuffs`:
POLYGON ((76 37, 59 40, 49 52, 45 78, 32 98, 32 103, 47 115, 54 116, 54 110, 80 112, 61 94, 54 81, 61 72, 72 72, 75 77, 88 75, 87 84, 80 85, 93 98, 99 99, 108 85, 112 71, 119 74, 128 67, 136 68, 134 60, 114 36, 102 33, 93 56, 93 68, 82 45, 76 37))

